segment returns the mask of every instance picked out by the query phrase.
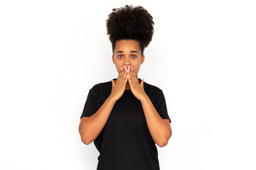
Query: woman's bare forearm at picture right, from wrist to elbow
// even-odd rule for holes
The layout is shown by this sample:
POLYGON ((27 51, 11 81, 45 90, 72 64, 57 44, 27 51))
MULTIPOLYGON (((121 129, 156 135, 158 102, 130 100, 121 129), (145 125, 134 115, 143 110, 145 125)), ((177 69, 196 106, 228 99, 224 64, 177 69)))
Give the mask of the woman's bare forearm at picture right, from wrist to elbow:
POLYGON ((146 118, 146 124, 149 128, 152 139, 157 145, 159 145, 159 147, 166 145, 171 137, 169 127, 166 125, 159 113, 157 113, 149 96, 145 94, 141 103, 146 118))

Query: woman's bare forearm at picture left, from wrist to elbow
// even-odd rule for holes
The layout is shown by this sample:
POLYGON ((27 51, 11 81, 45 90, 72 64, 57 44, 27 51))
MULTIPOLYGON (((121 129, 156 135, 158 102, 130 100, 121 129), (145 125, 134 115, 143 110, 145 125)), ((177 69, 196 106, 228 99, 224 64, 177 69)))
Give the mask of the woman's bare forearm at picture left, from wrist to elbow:
POLYGON ((100 134, 105 124, 107 123, 107 119, 110 116, 112 108, 114 107, 116 101, 110 95, 106 101, 102 104, 102 106, 98 109, 98 111, 91 115, 85 123, 80 125, 80 135, 82 142, 89 145, 90 142, 94 141, 97 136, 100 134))

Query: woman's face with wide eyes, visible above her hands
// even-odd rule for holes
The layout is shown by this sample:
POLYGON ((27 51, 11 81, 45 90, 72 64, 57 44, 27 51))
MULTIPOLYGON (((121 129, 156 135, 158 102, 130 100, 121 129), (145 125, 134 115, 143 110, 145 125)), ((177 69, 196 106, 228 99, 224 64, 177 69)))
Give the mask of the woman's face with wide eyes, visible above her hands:
POLYGON ((139 47, 137 40, 118 40, 114 47, 114 54, 112 56, 113 63, 117 68, 117 72, 121 72, 121 67, 133 67, 134 73, 138 78, 140 65, 144 62, 144 55, 139 47))

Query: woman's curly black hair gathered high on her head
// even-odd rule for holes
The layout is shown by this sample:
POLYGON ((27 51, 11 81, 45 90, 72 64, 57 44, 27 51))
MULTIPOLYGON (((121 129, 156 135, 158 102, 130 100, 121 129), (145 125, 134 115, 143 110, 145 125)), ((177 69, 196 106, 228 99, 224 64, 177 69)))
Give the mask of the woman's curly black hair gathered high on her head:
POLYGON ((154 34, 153 17, 142 6, 113 8, 106 25, 113 53, 117 40, 137 40, 143 55, 144 48, 149 45, 154 34))

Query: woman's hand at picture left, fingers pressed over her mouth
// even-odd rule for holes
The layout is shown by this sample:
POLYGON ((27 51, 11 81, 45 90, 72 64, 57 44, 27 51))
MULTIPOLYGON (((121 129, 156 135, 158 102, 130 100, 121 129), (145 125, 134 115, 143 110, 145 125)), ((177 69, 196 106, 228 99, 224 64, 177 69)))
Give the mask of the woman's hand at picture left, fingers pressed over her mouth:
POLYGON ((124 94, 125 86, 128 81, 127 76, 129 76, 129 69, 122 67, 117 77, 117 82, 112 80, 112 91, 110 96, 114 98, 114 101, 118 101, 118 99, 124 94))

